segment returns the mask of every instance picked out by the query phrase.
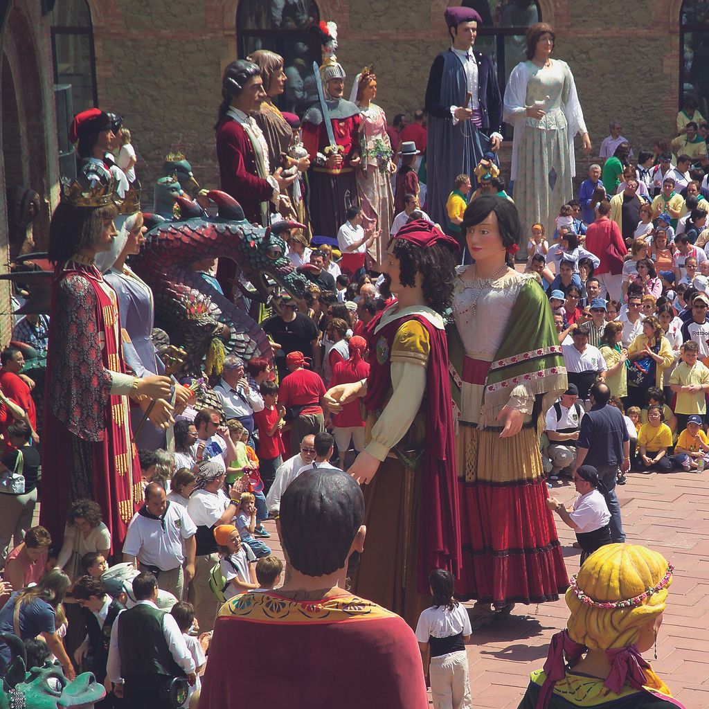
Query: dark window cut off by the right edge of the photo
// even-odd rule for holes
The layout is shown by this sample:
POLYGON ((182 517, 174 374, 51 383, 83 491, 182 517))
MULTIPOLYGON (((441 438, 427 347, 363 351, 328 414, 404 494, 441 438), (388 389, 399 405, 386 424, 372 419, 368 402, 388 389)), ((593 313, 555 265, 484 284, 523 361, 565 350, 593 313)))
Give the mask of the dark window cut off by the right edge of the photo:
POLYGON ((709 3, 684 0, 679 17, 679 105, 693 96, 700 113, 709 116, 709 3))

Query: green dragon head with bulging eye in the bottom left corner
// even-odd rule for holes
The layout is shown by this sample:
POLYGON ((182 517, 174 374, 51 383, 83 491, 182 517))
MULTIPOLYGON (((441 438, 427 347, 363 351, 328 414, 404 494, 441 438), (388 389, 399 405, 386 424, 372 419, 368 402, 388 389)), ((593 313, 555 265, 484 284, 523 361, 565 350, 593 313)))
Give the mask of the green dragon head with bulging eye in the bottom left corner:
POLYGON ((59 665, 27 667, 25 644, 16 635, 3 633, 12 660, 0 674, 0 709, 91 709, 106 696, 104 686, 91 672, 67 681, 59 665))

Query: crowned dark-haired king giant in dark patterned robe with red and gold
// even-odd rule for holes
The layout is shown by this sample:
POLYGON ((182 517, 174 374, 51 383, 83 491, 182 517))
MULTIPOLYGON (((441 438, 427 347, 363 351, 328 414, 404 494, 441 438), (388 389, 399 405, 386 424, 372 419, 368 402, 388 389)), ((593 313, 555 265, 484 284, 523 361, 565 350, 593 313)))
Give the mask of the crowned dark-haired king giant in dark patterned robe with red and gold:
MULTIPOLYGON (((167 397, 171 382, 164 376, 125 374, 116 293, 94 265, 96 254, 116 237, 113 185, 108 170, 85 162, 74 182, 62 184, 62 201, 50 225, 55 277, 40 523, 60 540, 69 503, 93 499, 116 549, 143 493, 128 396, 167 397)), ((162 411, 159 423, 166 423, 169 411, 162 411)))

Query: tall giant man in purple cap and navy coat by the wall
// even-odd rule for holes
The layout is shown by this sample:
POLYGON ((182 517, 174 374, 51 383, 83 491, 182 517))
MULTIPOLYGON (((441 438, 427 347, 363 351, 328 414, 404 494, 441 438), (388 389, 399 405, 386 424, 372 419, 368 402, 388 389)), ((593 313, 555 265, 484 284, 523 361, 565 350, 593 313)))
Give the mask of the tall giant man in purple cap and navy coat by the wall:
POLYGON ((467 7, 449 7, 445 21, 452 47, 431 66, 426 87, 426 211, 446 224, 446 200, 459 174, 470 176, 488 150, 502 142, 502 96, 495 67, 482 52, 472 50, 481 18, 467 7))

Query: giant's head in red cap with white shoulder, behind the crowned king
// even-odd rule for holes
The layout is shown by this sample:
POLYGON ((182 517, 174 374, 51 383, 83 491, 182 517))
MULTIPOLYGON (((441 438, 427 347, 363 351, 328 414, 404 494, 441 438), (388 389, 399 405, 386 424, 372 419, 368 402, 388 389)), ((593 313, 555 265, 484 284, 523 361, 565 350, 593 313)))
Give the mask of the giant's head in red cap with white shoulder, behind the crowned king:
POLYGON ((102 165, 111 171, 116 181, 116 193, 121 199, 128 191, 128 178, 111 155, 111 146, 116 138, 122 119, 116 113, 106 113, 100 108, 88 108, 77 113, 69 125, 69 142, 76 143, 79 161, 102 165))

